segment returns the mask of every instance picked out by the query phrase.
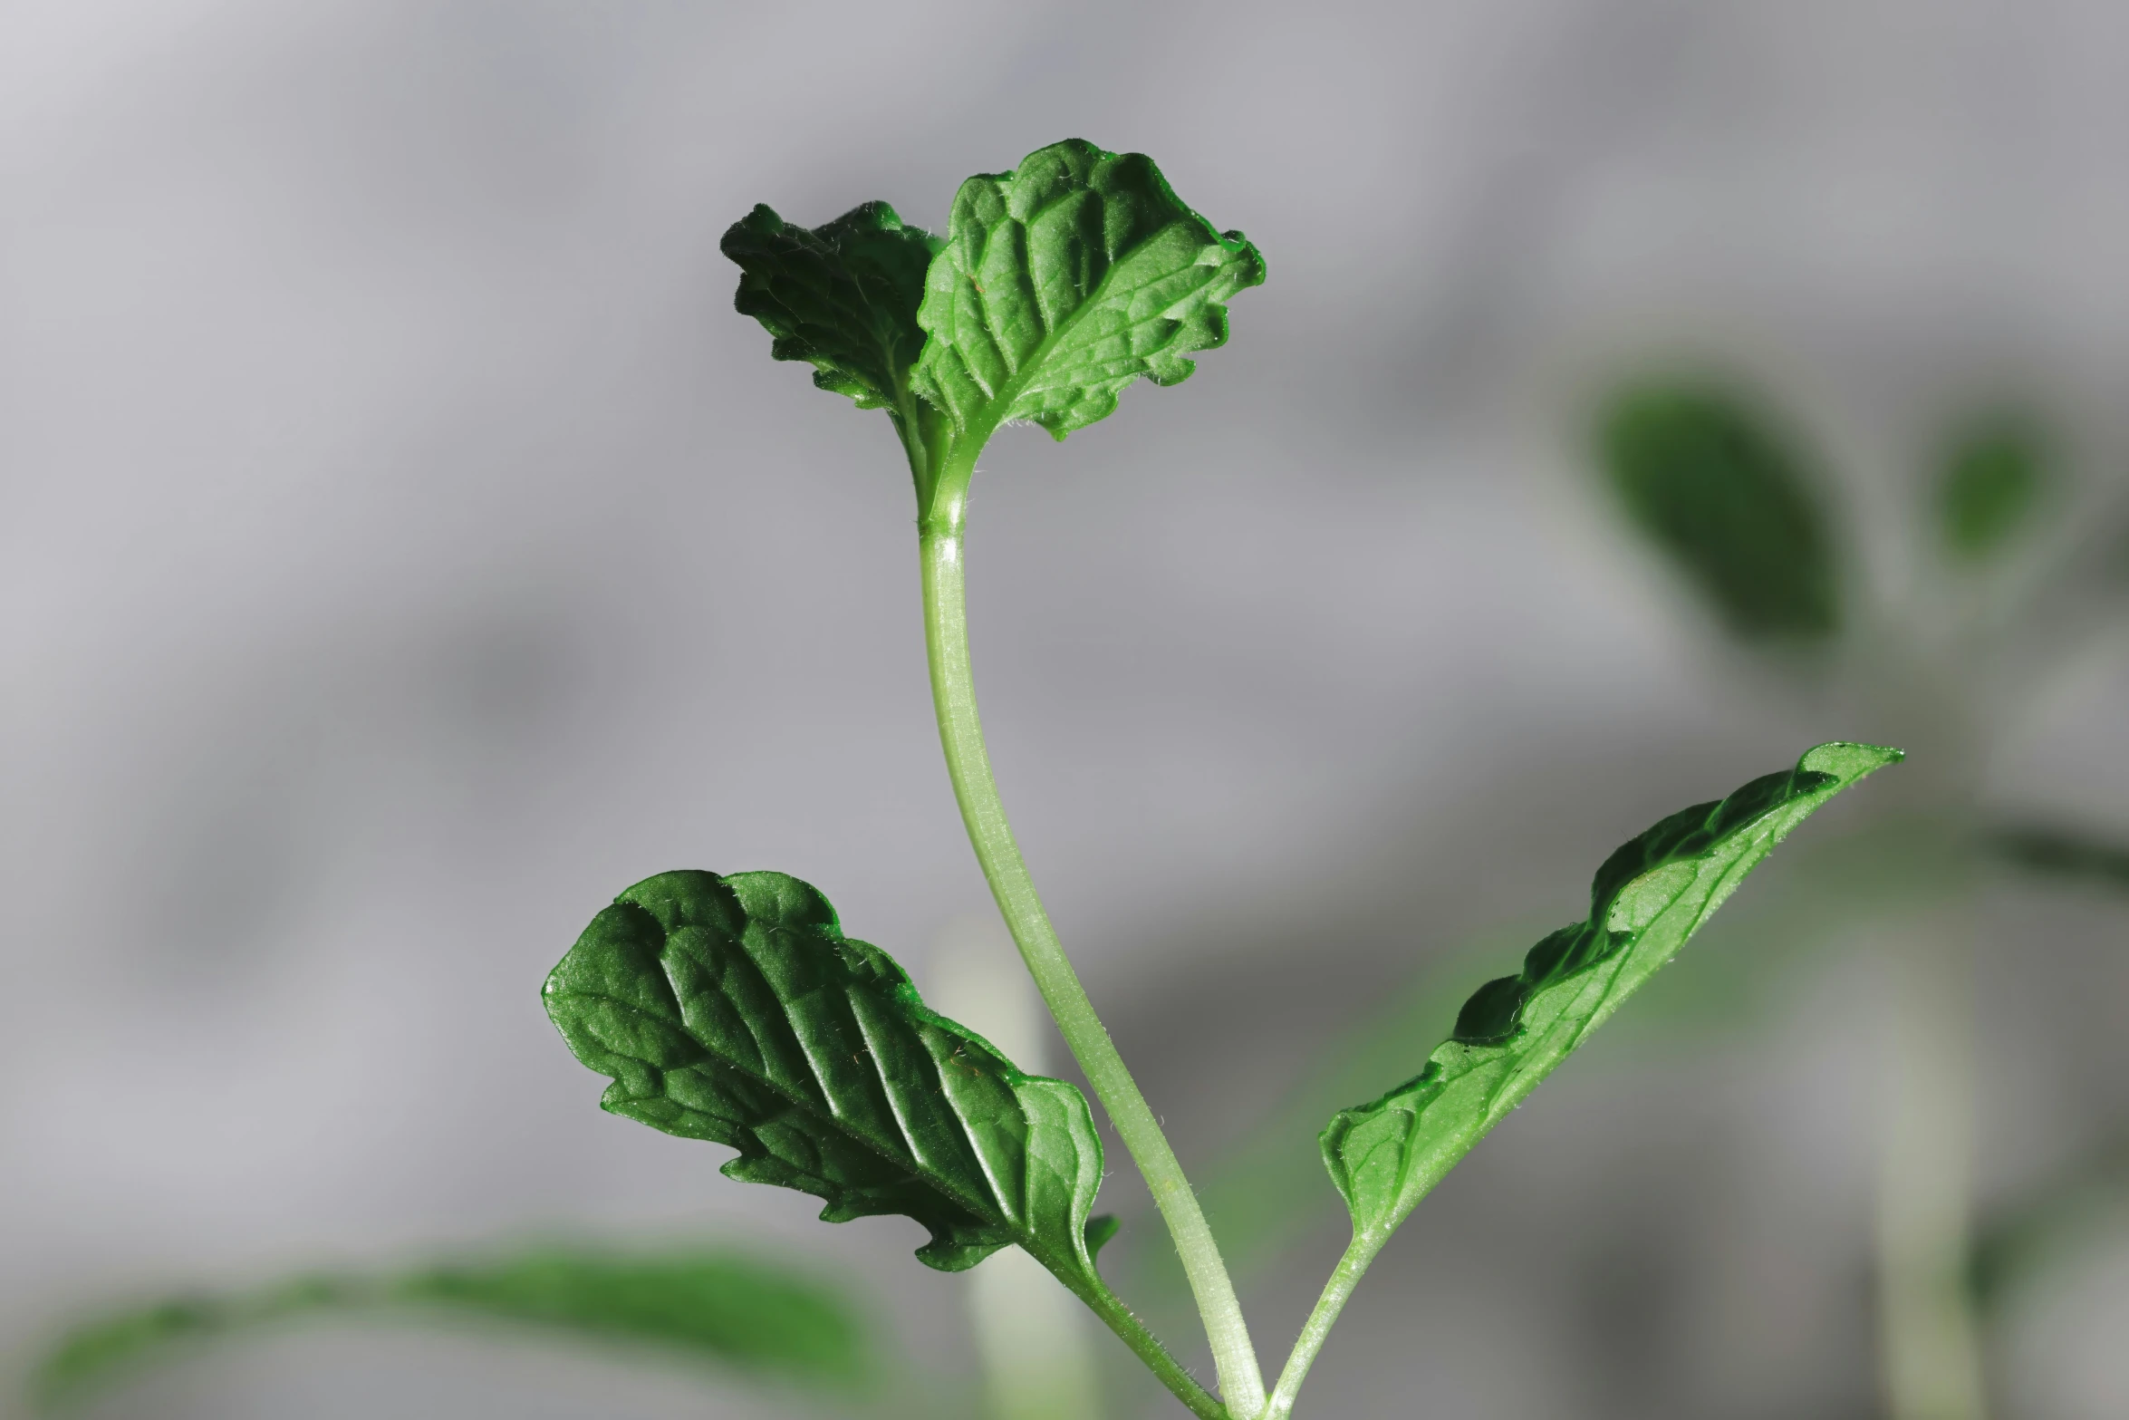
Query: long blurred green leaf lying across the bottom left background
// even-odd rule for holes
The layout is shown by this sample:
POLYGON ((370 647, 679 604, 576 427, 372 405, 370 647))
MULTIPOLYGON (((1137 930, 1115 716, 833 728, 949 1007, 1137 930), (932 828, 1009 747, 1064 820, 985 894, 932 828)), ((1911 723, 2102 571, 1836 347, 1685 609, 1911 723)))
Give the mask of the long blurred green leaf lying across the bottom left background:
POLYGON ((656 1258, 541 1248, 398 1277, 317 1275, 253 1292, 172 1297, 77 1326, 32 1377, 40 1407, 89 1399, 158 1360, 321 1311, 462 1314, 590 1341, 649 1343, 745 1373, 854 1388, 871 1373, 856 1309, 756 1258, 683 1248, 656 1258))

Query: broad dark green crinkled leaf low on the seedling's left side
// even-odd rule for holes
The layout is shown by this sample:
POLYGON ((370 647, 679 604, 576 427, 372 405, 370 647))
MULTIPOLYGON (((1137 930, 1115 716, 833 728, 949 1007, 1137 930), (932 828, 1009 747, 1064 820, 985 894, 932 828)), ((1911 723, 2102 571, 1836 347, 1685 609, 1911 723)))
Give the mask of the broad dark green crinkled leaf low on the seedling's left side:
POLYGON ((903 1213, 918 1258, 975 1267, 1020 1243, 1099 1286, 1086 1096, 1024 1075, 924 1007, 886 952, 783 873, 660 873, 598 913, 547 977, 547 1013, 613 1084, 613 1113, 739 1150, 724 1173, 903 1213))

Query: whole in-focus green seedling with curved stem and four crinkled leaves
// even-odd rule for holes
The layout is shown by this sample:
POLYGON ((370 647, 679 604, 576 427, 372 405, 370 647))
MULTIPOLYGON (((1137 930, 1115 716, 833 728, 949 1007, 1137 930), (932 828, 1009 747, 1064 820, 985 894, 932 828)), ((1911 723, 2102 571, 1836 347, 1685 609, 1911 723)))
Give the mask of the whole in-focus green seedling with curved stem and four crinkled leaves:
MULTIPOLYGON (((547 979, 571 1050, 613 1084, 605 1107, 739 1152, 724 1173, 798 1188, 822 1218, 901 1213, 941 1271, 1018 1245, 1205 1420, 1284 1420, 1369 1262, 1426 1192, 1684 945, 1782 837, 1901 758, 1829 743, 1795 769, 1684 809, 1599 869, 1590 913, 1522 971, 1480 988, 1405 1084, 1339 1111, 1322 1158, 1352 1213, 1339 1260, 1267 1392, 1196 1194, 1094 1013, 999 800, 967 637, 975 464, 1005 424, 1067 434, 1139 377, 1186 379, 1226 341, 1226 302, 1265 279, 1241 232, 1186 207, 1143 153, 1064 141, 962 183, 943 236, 867 202, 820 228, 756 207, 724 236, 739 311, 771 356, 886 411, 918 505, 924 630, 947 777, 1028 973, 1182 1258, 1218 1369, 1207 1390, 1103 1279, 1116 1222, 1094 1213, 1103 1147, 1086 1096, 1026 1075, 930 1011, 907 973, 843 935, 781 873, 662 873, 598 913, 547 979)), ((1816 605, 1808 607, 1816 615, 1816 605)))

